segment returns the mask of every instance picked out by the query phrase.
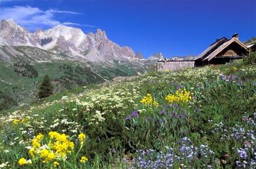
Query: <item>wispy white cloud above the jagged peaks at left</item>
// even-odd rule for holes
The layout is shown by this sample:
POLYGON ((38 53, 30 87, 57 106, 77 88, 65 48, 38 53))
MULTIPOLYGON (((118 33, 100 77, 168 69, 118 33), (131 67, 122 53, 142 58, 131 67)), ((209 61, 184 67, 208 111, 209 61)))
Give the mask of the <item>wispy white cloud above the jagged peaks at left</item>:
POLYGON ((75 11, 62 11, 52 9, 43 11, 39 8, 31 6, 0 7, 0 11, 0 20, 13 19, 14 22, 31 30, 36 28, 49 28, 60 24, 92 27, 92 25, 82 25, 72 22, 61 23, 59 20, 55 19, 56 14, 80 14, 75 11))

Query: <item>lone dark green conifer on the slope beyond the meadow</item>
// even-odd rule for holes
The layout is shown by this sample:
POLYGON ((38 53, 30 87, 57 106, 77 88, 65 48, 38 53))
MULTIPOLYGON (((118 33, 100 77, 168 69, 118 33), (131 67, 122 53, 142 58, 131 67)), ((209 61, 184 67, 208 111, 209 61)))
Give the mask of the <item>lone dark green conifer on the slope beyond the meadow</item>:
POLYGON ((54 90, 53 85, 51 84, 51 79, 48 75, 45 75, 43 78, 42 84, 39 87, 39 98, 48 97, 52 94, 54 90))

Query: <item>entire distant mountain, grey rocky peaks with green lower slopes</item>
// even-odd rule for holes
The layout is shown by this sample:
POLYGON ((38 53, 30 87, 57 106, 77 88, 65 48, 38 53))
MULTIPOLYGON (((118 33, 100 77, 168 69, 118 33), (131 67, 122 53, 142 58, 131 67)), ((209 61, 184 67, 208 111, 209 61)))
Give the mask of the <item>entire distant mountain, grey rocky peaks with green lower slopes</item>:
POLYGON ((37 102, 39 84, 46 74, 58 93, 117 76, 140 75, 153 64, 130 47, 108 39, 101 29, 86 34, 57 25, 30 32, 12 19, 1 20, 0 111, 37 102))

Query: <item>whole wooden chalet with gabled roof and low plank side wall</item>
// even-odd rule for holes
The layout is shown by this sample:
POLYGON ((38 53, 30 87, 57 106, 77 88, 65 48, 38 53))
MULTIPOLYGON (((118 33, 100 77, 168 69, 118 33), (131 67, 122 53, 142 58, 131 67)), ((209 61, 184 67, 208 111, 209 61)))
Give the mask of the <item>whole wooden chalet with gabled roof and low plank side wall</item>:
POLYGON ((231 39, 217 39, 204 52, 194 58, 164 59, 157 61, 158 72, 178 70, 184 67, 198 67, 207 64, 225 64, 249 54, 248 46, 239 41, 239 34, 231 39))

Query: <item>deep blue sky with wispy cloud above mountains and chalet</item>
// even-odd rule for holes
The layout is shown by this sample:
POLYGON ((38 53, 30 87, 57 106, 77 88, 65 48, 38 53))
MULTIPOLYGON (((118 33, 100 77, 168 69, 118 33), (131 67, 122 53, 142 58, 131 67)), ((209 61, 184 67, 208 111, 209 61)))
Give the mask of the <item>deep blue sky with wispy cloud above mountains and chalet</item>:
POLYGON ((9 17, 31 31, 58 24, 86 33, 101 28, 110 40, 145 57, 198 55, 216 38, 256 36, 255 0, 0 0, 0 19, 9 17))

